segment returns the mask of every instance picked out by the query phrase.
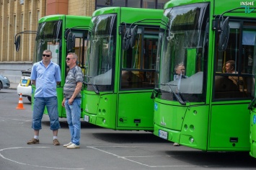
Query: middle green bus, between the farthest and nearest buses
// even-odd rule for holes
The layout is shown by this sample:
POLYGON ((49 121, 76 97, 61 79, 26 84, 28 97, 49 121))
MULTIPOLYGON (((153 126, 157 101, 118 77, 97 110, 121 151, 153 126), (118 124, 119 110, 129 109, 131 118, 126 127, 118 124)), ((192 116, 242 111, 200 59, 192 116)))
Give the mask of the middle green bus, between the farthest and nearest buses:
POLYGON ((112 130, 153 131, 161 9, 106 7, 92 15, 87 43, 84 120, 112 130))

